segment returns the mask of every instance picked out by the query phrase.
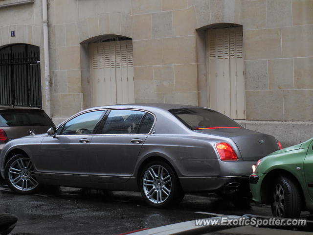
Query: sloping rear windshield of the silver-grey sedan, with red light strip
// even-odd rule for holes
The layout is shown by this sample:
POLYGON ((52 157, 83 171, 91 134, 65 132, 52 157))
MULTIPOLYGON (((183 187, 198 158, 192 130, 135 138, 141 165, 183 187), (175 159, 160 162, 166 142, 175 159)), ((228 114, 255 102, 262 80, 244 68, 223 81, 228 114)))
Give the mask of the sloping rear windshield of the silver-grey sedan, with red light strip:
POLYGON ((241 128, 237 122, 214 110, 205 108, 171 109, 176 118, 192 130, 213 128, 241 128))

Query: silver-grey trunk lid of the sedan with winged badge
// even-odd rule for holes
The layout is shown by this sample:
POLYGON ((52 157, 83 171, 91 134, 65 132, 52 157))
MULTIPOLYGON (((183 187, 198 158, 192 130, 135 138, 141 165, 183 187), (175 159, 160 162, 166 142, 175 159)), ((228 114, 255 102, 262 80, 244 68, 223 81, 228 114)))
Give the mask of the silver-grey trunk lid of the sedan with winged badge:
POLYGON ((231 138, 236 143, 243 161, 257 161, 279 150, 275 137, 246 128, 205 129, 196 131, 231 138))

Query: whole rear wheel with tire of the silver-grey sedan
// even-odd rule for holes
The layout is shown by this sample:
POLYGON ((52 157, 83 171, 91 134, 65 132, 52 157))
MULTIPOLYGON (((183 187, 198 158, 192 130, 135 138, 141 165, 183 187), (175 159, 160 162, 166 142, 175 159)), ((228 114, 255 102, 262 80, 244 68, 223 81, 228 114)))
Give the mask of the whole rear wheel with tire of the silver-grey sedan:
POLYGON ((156 208, 177 204, 184 196, 174 171, 161 161, 151 162, 144 167, 139 184, 142 197, 156 208))

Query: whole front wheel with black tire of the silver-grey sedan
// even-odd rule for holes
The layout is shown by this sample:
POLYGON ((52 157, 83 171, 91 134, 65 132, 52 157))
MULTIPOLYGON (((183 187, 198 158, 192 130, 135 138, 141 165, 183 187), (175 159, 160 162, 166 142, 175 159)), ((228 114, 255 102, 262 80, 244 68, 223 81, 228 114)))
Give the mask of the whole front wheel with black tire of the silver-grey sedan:
MULTIPOLYGON (((22 153, 14 155, 5 165, 5 170, 4 170, 5 182, 9 186, 9 188, 11 188, 15 192, 22 193, 22 194, 34 193, 39 188, 38 187, 39 184, 35 178, 33 171, 34 171, 34 167, 31 163, 31 160, 28 158, 28 156, 22 153), (26 164, 21 165, 20 161, 23 161, 26 164), (24 166, 24 167, 20 167, 20 166, 24 166), (27 166, 29 166, 29 169, 27 168, 27 166), (17 168, 18 170, 21 168, 21 170, 19 171, 19 173, 11 174, 9 173, 11 167, 17 168), (16 181, 14 181, 16 183, 15 185, 13 185, 13 183, 11 182, 13 177, 16 177, 16 181)), ((14 171, 14 172, 18 172, 18 171, 14 171)))

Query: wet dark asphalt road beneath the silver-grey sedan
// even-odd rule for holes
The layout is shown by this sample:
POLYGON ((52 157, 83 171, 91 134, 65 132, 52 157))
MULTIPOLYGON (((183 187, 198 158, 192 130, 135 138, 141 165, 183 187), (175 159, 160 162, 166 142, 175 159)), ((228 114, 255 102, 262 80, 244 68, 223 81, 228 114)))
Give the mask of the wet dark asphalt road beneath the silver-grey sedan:
POLYGON ((248 199, 234 203, 212 194, 188 194, 179 206, 154 209, 138 192, 61 187, 21 195, 0 187, 0 213, 19 217, 12 235, 117 235, 214 216, 196 212, 271 215, 248 199))

